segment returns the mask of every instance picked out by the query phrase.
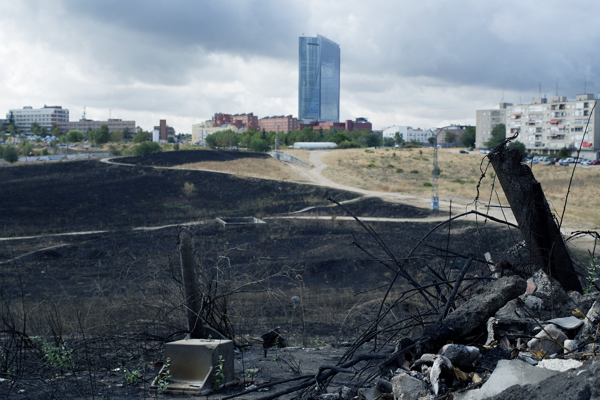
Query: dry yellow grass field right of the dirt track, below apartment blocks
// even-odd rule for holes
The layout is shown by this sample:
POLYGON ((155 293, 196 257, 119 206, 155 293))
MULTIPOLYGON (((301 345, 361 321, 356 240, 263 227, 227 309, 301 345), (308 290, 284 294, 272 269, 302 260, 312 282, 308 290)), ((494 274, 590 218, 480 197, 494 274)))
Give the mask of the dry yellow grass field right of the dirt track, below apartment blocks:
MULTIPOLYGON (((424 186, 431 182, 433 149, 344 149, 328 151, 321 158, 329 168, 323 175, 332 181, 365 190, 412 193, 429 196, 431 188, 424 186)), ((287 151, 296 157, 305 158, 304 154, 287 151)), ((304 151, 307 152, 307 151, 304 151)), ((481 176, 479 166, 487 167, 487 158, 478 151, 460 154, 458 149, 438 149, 439 167, 442 170, 439 180, 439 195, 446 199, 460 200, 463 203, 472 201, 476 194, 476 185, 481 176)), ((560 216, 565 202, 565 195, 574 164, 570 167, 545 166, 533 164, 533 174, 542 184, 545 195, 551 206, 560 216)), ((494 170, 491 165, 486 177, 481 182, 482 201, 490 199, 490 188, 494 170)), ((502 188, 496 181, 492 201, 498 199, 508 205, 502 188), (496 197, 496 193, 498 197, 496 197)), ((571 185, 571 193, 565 212, 564 224, 585 225, 589 228, 600 226, 600 168, 597 166, 577 166, 571 185)))

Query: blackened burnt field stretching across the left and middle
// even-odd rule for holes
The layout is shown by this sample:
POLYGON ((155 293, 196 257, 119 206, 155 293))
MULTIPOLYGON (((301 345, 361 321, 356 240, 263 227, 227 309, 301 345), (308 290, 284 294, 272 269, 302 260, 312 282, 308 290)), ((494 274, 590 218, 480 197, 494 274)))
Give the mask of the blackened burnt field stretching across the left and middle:
MULTIPOLYGON (((133 165, 71 161, 0 169, 8 188, 2 198, 7 218, 0 227, 5 332, 0 339, 7 356, 0 369, 11 382, 10 388, 0 385, 0 396, 89 398, 90 386, 110 398, 147 396, 158 371, 148 361, 161 359, 165 342, 185 336, 178 226, 190 224, 195 236, 206 288, 203 309, 210 313, 206 321, 240 348, 257 349, 260 335, 275 327, 296 346, 338 344, 361 335, 361 324, 377 314, 386 284, 394 279, 393 269, 353 243, 385 259, 375 237, 356 221, 339 218, 345 212, 331 207, 328 197, 352 200, 344 206, 358 217, 424 218, 367 222, 395 258, 439 223, 427 217, 445 217, 314 185, 157 168, 205 161, 202 157, 229 159, 191 153, 181 159, 178 152, 121 159, 133 165), (281 218, 300 210, 298 215, 320 219, 281 218), (217 216, 257 216, 267 223, 225 230, 214 221, 217 216), (301 301, 292 304, 292 296, 301 301), (56 354, 67 348, 74 355, 63 363, 68 368, 47 359, 47 343, 56 349, 64 344, 56 354), (130 383, 123 369, 115 372, 118 365, 138 371, 139 379, 130 383), (88 377, 91 369, 94 376, 88 377)), ((433 231, 428 242, 476 257, 504 251, 514 234, 502 225, 482 229, 455 220, 433 231)), ((448 276, 456 275, 462 261, 455 268, 456 257, 440 254, 434 249, 415 254, 415 263, 428 257, 447 266, 448 276)), ((420 307, 411 297, 391 317, 420 307)), ((159 398, 170 398, 165 396, 159 398)))

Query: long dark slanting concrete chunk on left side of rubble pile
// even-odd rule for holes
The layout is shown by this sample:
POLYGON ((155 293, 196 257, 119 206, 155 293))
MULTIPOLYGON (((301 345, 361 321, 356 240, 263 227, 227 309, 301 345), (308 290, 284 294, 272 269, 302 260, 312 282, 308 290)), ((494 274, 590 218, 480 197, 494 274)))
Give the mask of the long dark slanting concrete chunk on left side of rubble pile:
POLYGON ((430 345, 438 347, 448 340, 485 329, 487 320, 509 300, 522 294, 526 286, 527 282, 520 276, 505 276, 490 282, 476 292, 479 294, 450 312, 442 323, 425 326, 423 335, 430 338, 430 345))

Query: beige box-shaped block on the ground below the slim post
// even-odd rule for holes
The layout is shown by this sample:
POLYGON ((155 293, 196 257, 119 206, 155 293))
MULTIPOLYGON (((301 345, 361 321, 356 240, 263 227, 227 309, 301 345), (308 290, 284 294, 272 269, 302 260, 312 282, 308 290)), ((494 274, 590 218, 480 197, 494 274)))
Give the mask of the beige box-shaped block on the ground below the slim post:
POLYGON ((165 391, 198 395, 212 392, 219 356, 225 375, 220 385, 223 387, 233 383, 233 341, 187 339, 166 343, 164 358, 171 359, 169 380, 172 382, 165 391))

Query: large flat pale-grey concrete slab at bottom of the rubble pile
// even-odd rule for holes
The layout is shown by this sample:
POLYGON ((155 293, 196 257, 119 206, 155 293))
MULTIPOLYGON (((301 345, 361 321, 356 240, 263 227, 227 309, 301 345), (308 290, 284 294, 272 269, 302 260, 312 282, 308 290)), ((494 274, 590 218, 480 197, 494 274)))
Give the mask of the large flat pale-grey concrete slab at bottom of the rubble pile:
POLYGON ((539 368, 521 360, 500 360, 490 378, 481 386, 454 396, 454 400, 482 400, 495 396, 513 385, 536 384, 558 371, 539 368))

